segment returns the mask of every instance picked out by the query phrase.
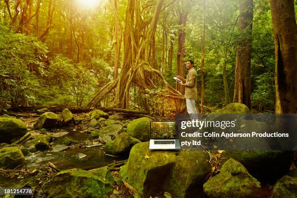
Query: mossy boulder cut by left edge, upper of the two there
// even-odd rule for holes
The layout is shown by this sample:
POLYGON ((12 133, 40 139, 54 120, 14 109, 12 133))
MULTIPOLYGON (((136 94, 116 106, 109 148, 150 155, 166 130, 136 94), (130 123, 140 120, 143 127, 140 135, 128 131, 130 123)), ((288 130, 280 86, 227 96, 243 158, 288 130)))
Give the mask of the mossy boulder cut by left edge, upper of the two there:
POLYGON ((11 143, 13 138, 20 138, 27 132, 26 124, 16 118, 0 117, 0 143, 11 143))

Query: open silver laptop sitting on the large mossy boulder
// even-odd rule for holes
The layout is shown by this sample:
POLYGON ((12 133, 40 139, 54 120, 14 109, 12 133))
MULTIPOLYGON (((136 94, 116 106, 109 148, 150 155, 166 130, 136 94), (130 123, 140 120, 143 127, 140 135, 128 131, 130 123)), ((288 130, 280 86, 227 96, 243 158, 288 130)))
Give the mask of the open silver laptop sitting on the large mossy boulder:
POLYGON ((181 149, 175 121, 150 121, 149 149, 181 149))

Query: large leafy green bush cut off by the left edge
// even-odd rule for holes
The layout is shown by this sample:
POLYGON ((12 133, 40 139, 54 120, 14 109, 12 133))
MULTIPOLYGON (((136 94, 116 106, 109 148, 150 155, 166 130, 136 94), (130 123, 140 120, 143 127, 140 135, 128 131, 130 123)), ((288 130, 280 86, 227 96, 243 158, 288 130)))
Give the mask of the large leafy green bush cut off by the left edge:
POLYGON ((39 85, 36 76, 44 76, 47 47, 36 38, 13 33, 0 25, 0 104, 16 106, 32 102, 39 85))

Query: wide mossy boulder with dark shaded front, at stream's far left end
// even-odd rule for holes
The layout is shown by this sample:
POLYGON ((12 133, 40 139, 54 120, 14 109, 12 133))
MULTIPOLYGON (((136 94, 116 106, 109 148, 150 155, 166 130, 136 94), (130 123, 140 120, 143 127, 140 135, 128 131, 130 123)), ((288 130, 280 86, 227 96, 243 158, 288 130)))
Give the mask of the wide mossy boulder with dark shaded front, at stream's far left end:
POLYGON ((49 129, 49 128, 55 128, 58 127, 61 120, 58 115, 52 113, 52 112, 46 112, 42 115, 40 115, 39 119, 34 124, 35 129, 49 129))

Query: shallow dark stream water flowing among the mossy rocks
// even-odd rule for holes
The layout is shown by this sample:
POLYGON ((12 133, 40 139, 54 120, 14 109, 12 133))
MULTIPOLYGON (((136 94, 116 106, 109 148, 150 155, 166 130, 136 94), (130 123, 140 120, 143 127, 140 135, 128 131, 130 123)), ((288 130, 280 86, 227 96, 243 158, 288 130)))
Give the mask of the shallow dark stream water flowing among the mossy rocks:
POLYGON ((68 133, 60 137, 55 137, 53 142, 55 144, 59 144, 63 138, 68 137, 80 143, 90 143, 88 146, 81 148, 70 146, 66 150, 58 152, 51 150, 38 151, 33 153, 33 155, 25 157, 24 167, 35 168, 50 162, 61 170, 70 168, 82 168, 84 170, 89 170, 128 158, 105 155, 104 145, 98 142, 89 141, 89 134, 82 131, 83 129, 75 129, 74 127, 63 128, 59 132, 68 133), (79 153, 81 153, 80 155, 85 156, 80 158, 79 153))

